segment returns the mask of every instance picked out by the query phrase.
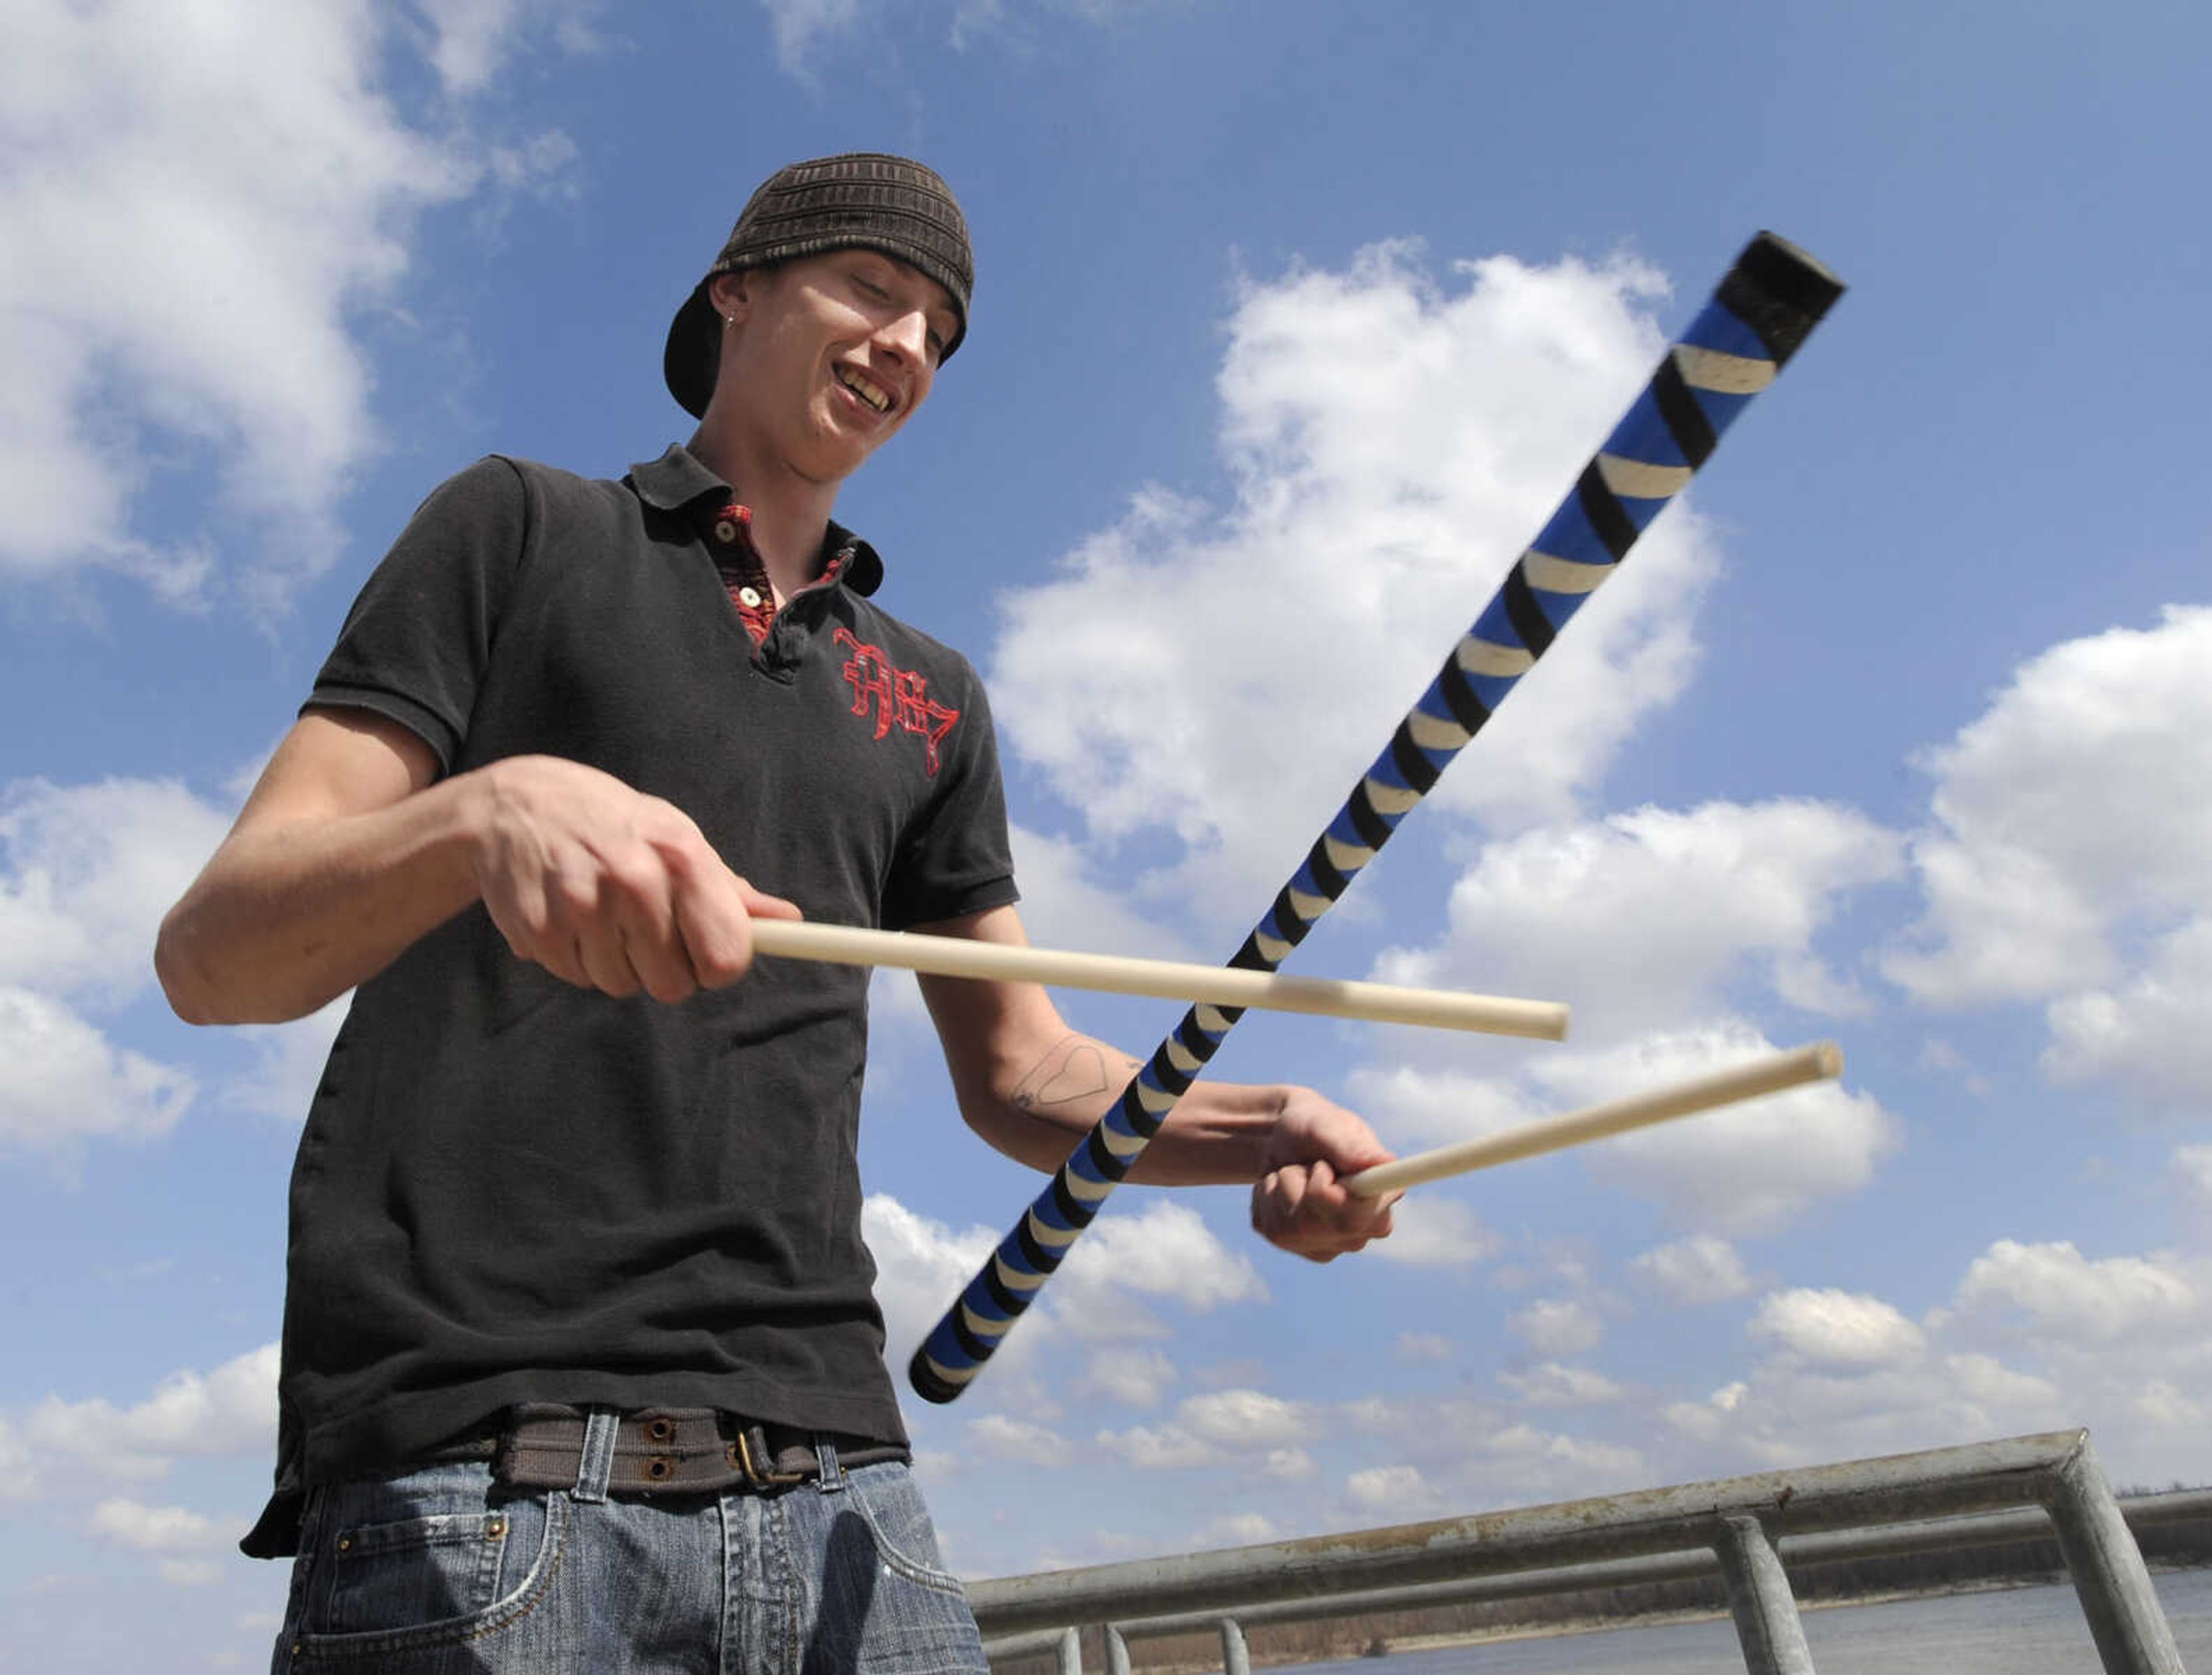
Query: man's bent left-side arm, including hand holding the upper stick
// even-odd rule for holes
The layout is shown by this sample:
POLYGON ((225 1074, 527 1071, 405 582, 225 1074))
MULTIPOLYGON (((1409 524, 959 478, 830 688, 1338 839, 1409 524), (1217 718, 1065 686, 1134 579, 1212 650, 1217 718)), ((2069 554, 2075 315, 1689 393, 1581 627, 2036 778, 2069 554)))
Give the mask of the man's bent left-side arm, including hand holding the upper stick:
POLYGON ((438 779, 414 732, 310 710, 161 920, 155 971, 195 1024, 283 1022, 376 976, 482 901, 518 958, 606 993, 681 1000, 752 965, 752 914, 690 816, 555 757, 438 779))

